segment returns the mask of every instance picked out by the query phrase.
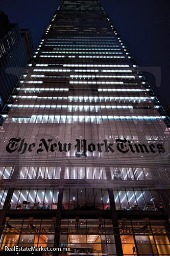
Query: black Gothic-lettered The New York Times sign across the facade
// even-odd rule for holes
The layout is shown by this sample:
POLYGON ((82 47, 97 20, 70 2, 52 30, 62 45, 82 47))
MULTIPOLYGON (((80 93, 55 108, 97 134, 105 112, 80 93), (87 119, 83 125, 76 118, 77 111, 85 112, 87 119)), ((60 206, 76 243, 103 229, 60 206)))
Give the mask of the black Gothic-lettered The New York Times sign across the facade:
POLYGON ((127 154, 129 152, 133 154, 142 154, 142 153, 159 153, 163 154, 165 152, 163 144, 148 143, 146 144, 135 144, 127 139, 116 139, 116 143, 109 143, 107 140, 103 140, 102 143, 93 144, 87 143, 87 140, 76 139, 75 144, 73 143, 61 143, 54 142, 53 139, 44 138, 40 139, 40 143, 36 146, 35 143, 27 143, 25 139, 21 138, 11 138, 8 145, 6 146, 6 151, 8 153, 18 152, 20 155, 25 154, 26 152, 36 151, 37 154, 42 152, 59 152, 67 153, 76 148, 77 152, 75 153, 77 157, 86 157, 87 152, 93 153, 98 151, 100 153, 106 152, 109 154, 114 154, 115 151, 118 151, 122 154, 127 154))

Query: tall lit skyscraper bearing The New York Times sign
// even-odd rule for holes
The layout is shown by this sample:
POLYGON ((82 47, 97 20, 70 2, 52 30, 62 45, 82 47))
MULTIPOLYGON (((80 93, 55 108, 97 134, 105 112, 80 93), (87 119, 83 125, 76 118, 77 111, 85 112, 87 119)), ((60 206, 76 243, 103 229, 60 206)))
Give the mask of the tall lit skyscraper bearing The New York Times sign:
POLYGON ((61 2, 15 92, 1 249, 170 255, 169 119, 99 1, 61 2))

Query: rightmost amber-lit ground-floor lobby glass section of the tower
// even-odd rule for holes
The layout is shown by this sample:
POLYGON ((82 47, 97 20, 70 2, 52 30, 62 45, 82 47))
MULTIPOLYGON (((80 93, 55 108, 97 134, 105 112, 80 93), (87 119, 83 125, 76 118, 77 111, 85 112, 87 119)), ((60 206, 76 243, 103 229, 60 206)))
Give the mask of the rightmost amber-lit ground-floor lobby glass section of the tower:
POLYGON ((148 227, 144 220, 119 220, 120 236, 124 255, 170 255, 170 244, 164 221, 150 220, 148 227), (123 225, 124 224, 124 225, 123 225), (136 233, 127 235, 131 230, 136 233), (137 235, 137 233, 139 233, 137 235), (156 233, 156 236, 150 234, 156 233))

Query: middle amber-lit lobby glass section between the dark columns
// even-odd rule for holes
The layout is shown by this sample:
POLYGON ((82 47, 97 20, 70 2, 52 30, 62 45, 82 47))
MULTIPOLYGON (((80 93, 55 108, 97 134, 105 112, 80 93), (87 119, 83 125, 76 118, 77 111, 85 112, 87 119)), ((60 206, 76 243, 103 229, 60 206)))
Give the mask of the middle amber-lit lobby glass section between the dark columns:
MULTIPOLYGON (((99 233, 99 220, 81 219, 79 224, 80 228, 76 230, 74 219, 62 220, 61 227, 67 227, 71 234, 60 236, 61 247, 69 247, 70 253, 91 253, 92 255, 107 255, 109 253, 116 255, 114 236, 99 233)), ((103 220, 102 228, 105 227, 112 227, 112 221, 103 220)))

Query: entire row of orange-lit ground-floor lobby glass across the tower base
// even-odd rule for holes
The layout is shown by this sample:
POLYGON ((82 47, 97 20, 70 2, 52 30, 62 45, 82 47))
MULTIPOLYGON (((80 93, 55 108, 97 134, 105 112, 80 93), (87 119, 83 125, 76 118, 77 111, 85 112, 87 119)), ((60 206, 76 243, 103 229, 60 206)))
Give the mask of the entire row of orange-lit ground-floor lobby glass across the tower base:
MULTIPOLYGON (((163 231, 165 230, 163 229, 163 221, 150 221, 150 227, 144 231, 145 222, 143 219, 127 220, 126 233, 123 233, 121 228, 122 220, 118 222, 124 255, 170 255, 169 238, 168 234, 163 231), (154 232, 155 227, 157 228, 157 234, 153 235, 153 233, 151 234, 151 229, 154 232), (160 228, 159 230, 158 227, 160 228), (136 235, 134 236, 130 230, 136 230, 136 235)), ((31 227, 29 219, 10 220, 10 228, 6 227, 8 234, 3 235, 1 238, 1 249, 4 246, 54 247, 55 228, 52 223, 52 219, 33 219, 33 226, 31 227), (9 233, 10 230, 11 233, 9 233)), ((99 219, 80 219, 79 224, 80 227, 76 228, 76 219, 61 220, 60 248, 70 248, 70 253, 76 254, 116 255, 116 235, 113 233, 112 220, 104 219, 102 226, 99 226, 99 219)))

